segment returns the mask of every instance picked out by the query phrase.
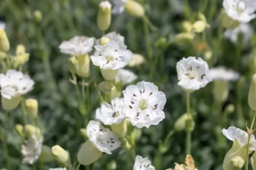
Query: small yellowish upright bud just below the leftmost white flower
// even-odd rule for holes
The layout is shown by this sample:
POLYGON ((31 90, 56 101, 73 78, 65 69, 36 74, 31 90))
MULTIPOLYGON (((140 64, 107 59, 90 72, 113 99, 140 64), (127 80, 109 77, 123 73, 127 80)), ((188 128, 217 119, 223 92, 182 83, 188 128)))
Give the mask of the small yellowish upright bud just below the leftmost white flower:
POLYGON ((38 102, 36 99, 29 98, 25 100, 25 109, 30 119, 35 119, 38 113, 38 102))

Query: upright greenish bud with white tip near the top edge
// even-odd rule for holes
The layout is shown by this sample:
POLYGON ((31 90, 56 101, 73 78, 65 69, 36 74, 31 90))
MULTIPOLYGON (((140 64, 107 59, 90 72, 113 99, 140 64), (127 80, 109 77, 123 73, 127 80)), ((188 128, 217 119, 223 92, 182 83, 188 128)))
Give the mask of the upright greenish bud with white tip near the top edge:
POLYGON ((108 1, 99 4, 97 24, 102 31, 106 31, 111 24, 111 4, 108 1))

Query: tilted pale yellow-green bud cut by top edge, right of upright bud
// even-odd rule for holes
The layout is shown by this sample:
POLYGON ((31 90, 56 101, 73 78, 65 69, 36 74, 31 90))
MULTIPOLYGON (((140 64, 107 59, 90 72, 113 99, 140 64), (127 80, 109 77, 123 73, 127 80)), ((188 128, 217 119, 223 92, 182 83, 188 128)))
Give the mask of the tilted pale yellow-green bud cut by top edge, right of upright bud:
POLYGON ((126 2, 125 10, 135 17, 143 17, 145 15, 145 10, 142 5, 134 0, 128 0, 126 2))

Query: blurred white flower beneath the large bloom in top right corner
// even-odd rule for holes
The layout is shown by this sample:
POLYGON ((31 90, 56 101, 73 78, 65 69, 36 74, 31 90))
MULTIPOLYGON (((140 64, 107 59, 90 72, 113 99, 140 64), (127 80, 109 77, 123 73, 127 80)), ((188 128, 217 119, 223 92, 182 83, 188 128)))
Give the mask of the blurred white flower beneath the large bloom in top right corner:
POLYGON ((233 30, 226 30, 224 37, 231 40, 231 42, 236 43, 240 33, 243 35, 244 44, 247 44, 251 40, 251 36, 253 36, 254 30, 251 25, 242 23, 233 30))

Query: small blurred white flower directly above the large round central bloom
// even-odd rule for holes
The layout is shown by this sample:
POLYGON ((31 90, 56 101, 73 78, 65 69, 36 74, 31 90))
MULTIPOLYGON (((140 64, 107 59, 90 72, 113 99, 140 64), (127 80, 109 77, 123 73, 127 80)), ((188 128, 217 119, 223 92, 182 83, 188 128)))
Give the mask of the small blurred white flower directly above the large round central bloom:
POLYGON ((115 83, 122 82, 124 85, 134 82, 138 76, 127 69, 120 69, 115 77, 115 83))

